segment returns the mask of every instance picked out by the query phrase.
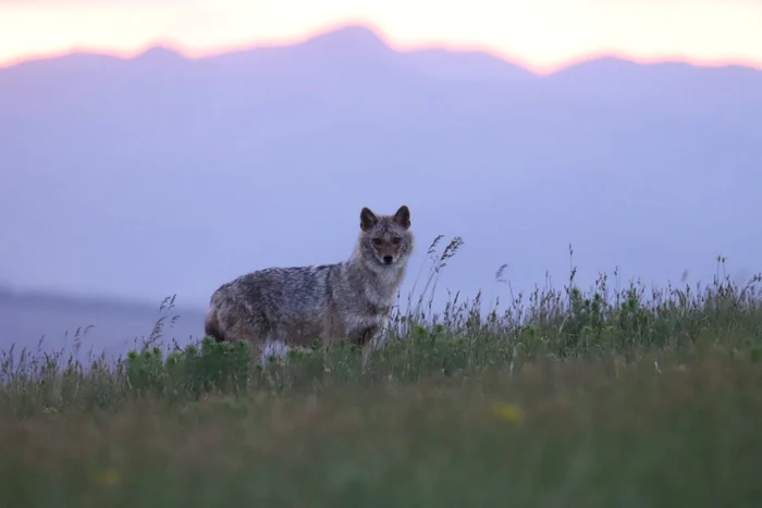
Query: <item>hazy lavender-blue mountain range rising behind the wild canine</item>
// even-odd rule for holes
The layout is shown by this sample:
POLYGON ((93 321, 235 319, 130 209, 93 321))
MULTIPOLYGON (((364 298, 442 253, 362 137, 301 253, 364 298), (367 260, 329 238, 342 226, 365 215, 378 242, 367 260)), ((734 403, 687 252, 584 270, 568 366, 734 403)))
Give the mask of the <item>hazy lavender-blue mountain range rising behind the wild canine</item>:
MULTIPOLYGON (((626 284, 711 281, 717 255, 745 280, 762 261, 754 69, 602 58, 537 75, 347 26, 200 59, 28 61, 0 69, 0 283, 16 287, 176 294, 200 312, 246 271, 345 258, 361 207, 403 203, 418 238, 404 293, 438 234, 465 241, 443 297, 505 300, 503 263, 518 292, 570 263, 626 284)), ((4 315, 24 337, 0 348, 36 343, 13 327, 34 312, 4 315)))

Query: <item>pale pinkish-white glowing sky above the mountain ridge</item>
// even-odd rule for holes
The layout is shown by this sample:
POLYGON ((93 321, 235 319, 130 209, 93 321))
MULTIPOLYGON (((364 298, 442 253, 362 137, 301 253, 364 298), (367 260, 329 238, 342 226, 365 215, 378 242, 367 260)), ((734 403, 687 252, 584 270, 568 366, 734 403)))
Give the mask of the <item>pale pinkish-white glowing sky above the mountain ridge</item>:
POLYGON ((0 65, 156 44, 194 57, 348 23, 397 49, 481 49, 538 72, 600 54, 762 67, 762 0, 0 0, 0 65))

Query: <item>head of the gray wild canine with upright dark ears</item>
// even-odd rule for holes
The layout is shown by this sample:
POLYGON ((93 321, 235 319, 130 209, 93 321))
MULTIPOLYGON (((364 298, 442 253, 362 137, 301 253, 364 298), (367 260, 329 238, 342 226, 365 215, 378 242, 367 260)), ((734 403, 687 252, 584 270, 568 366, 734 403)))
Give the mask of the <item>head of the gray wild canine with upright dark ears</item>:
POLYGON ((403 205, 394 215, 376 215, 364 208, 358 247, 366 261, 382 267, 406 263, 413 253, 410 210, 403 205))

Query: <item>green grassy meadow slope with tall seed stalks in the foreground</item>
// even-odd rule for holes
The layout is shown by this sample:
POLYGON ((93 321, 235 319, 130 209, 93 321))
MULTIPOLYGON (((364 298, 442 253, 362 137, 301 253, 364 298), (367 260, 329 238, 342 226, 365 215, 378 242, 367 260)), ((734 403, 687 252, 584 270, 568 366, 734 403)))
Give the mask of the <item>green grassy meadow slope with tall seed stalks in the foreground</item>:
POLYGON ((263 367, 209 339, 5 355, 0 505, 760 506, 759 276, 583 290, 572 270, 438 314, 459 239, 438 241, 366 371, 345 345, 263 367))

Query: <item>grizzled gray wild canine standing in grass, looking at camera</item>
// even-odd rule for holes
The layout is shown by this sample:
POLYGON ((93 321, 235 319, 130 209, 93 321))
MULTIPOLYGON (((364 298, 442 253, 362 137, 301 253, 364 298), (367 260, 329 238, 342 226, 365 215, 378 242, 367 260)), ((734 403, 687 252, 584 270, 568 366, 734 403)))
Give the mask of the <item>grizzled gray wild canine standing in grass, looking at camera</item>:
POLYGON ((364 346, 378 336, 414 248, 410 212, 360 212, 348 260, 323 265, 269 268, 223 284, 211 297, 206 334, 248 340, 261 354, 272 343, 306 348, 348 339, 364 346))

